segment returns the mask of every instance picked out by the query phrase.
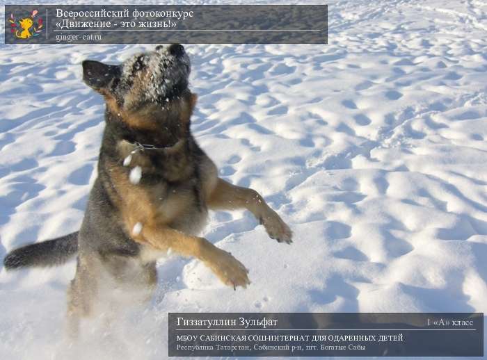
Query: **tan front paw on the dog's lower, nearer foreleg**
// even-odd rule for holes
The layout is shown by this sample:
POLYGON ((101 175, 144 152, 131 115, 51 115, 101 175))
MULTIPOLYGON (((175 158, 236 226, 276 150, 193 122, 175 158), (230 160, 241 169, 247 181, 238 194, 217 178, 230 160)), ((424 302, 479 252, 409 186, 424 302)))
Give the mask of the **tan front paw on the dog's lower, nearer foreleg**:
POLYGON ((212 261, 208 262, 209 268, 220 279, 223 284, 228 286, 241 286, 246 288, 250 281, 248 279, 248 270, 243 263, 238 261, 229 252, 215 248, 216 254, 212 256, 212 261))

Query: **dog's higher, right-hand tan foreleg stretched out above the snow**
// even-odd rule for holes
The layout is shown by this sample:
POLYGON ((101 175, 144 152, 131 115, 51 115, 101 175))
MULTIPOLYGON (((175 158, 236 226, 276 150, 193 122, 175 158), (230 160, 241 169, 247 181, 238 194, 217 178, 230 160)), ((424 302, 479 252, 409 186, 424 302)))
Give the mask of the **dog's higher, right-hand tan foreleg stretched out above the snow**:
POLYGON ((211 210, 246 208, 264 225, 271 238, 278 240, 279 243, 282 241, 292 243, 291 229, 253 189, 235 186, 218 178, 214 190, 209 194, 207 205, 211 210))

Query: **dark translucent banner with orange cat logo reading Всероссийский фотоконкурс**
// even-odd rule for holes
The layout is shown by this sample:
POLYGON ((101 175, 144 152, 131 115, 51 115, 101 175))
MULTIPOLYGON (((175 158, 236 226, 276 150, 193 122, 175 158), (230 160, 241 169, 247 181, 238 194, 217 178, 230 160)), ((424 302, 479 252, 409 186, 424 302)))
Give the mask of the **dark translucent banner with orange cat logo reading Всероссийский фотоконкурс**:
POLYGON ((326 5, 6 5, 6 44, 327 44, 326 5))

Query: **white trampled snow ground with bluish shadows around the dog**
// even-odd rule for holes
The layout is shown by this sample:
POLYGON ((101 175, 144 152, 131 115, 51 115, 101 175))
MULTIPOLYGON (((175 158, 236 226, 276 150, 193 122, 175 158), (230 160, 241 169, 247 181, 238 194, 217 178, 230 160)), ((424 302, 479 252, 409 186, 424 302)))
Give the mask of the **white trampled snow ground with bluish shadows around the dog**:
MULTIPOLYGON (((329 1, 328 45, 188 45, 193 133, 221 177, 294 231, 212 213, 205 236, 250 269, 233 291, 201 263, 159 261, 150 309, 86 359, 163 359, 176 311, 487 312, 487 1, 329 1), (123 345, 123 346, 122 346, 123 345)), ((102 98, 86 58, 153 45, 0 46, 0 259, 79 229, 102 98)), ((52 359, 74 261, 0 271, 0 359, 52 359)))

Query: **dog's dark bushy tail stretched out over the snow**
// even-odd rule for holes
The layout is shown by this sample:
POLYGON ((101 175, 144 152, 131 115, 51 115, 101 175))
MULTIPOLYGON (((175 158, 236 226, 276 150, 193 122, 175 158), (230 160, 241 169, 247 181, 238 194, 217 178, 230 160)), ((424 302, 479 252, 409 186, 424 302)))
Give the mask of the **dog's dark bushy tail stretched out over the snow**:
POLYGON ((5 256, 3 266, 10 270, 61 265, 77 254, 78 233, 19 247, 5 256))

